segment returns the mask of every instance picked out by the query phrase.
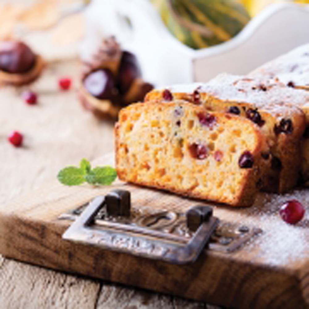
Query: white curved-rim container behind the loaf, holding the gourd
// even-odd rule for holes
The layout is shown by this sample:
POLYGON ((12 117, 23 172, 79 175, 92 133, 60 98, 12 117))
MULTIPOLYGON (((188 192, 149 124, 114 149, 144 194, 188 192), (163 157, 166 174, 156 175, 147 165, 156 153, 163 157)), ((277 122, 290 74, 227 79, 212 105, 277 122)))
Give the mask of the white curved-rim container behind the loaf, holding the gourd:
POLYGON ((83 59, 89 60, 103 36, 115 35, 137 55, 145 80, 157 87, 206 82, 222 72, 247 74, 309 42, 309 5, 294 3, 271 5, 232 40, 199 50, 174 38, 148 0, 93 0, 86 18, 83 59))

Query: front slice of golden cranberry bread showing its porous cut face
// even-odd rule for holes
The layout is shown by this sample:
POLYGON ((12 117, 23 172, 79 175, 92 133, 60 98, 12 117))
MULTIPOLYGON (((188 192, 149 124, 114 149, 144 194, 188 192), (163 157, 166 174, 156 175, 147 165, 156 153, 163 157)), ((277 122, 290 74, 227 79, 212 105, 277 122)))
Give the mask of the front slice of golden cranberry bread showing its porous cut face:
POLYGON ((183 100, 136 103, 115 126, 121 180, 249 206, 259 185, 263 136, 248 119, 183 100))

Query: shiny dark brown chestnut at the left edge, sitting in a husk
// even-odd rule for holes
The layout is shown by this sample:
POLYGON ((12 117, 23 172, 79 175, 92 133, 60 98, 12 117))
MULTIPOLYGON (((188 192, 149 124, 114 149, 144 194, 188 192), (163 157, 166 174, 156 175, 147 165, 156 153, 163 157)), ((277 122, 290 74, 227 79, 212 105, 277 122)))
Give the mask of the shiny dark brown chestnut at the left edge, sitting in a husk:
POLYGON ((19 41, 0 42, 0 70, 9 73, 24 73, 35 63, 35 54, 19 41))

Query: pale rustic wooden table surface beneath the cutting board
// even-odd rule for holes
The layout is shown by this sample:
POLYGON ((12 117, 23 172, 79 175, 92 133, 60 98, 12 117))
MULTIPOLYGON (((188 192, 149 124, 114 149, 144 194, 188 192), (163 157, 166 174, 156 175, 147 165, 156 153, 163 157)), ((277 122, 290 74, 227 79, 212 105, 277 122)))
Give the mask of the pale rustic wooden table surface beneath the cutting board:
MULTIPOLYGON (((57 175, 57 171, 92 160, 113 149, 113 124, 96 120, 78 104, 73 89, 58 90, 57 78, 78 75, 77 61, 50 64, 30 87, 0 90, 0 202, 7 203, 57 175), (21 99, 23 90, 38 93, 38 104, 21 99), (15 148, 6 137, 24 134, 15 148)), ((59 273, 0 256, 1 308, 217 308, 108 282, 59 273)))

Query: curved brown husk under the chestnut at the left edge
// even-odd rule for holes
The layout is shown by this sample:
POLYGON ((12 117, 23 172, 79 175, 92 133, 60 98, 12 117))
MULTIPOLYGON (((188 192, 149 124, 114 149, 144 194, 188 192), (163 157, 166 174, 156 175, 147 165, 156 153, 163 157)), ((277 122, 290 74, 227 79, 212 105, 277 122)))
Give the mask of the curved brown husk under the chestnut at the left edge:
POLYGON ((25 73, 7 73, 0 70, 0 84, 22 86, 38 78, 44 68, 43 59, 37 55, 34 66, 25 73))

